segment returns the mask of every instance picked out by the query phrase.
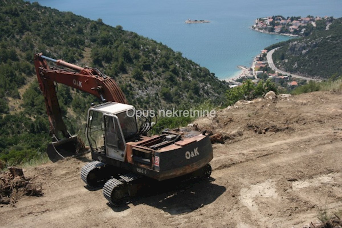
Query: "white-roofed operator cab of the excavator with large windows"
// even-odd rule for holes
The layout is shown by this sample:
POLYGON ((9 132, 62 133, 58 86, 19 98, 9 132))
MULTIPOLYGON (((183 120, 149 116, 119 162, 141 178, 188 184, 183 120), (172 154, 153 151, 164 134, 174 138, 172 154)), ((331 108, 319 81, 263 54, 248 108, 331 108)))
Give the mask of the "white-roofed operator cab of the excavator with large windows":
POLYGON ((107 102, 88 111, 86 134, 92 152, 124 161, 126 142, 138 133, 132 105, 107 102))

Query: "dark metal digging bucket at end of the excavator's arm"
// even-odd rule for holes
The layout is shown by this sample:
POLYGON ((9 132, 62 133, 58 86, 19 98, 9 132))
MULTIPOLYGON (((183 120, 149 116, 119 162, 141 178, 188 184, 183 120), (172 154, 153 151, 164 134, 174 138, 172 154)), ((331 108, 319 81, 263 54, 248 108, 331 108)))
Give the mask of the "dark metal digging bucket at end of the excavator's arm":
POLYGON ((73 136, 48 144, 47 153, 52 162, 78 155, 78 138, 73 136))

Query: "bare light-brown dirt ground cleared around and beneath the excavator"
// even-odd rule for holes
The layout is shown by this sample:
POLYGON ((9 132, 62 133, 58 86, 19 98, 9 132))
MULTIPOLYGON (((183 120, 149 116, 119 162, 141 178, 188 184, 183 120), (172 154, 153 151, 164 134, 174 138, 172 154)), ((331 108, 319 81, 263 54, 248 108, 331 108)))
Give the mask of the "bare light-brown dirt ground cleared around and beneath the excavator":
POLYGON ((86 157, 24 170, 44 196, 0 205, 0 227, 303 227, 342 210, 342 96, 315 92, 237 102, 201 129, 213 144, 212 179, 113 208, 80 179, 86 157))

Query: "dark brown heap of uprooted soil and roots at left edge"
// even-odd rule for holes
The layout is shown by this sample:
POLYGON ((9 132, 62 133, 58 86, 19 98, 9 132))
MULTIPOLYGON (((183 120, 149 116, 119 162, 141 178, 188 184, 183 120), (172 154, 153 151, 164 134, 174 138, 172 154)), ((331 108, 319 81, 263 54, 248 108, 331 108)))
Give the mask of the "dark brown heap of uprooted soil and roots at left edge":
POLYGON ((0 173, 0 204, 14 205, 22 196, 41 196, 42 184, 26 178, 23 170, 10 167, 8 172, 0 173))

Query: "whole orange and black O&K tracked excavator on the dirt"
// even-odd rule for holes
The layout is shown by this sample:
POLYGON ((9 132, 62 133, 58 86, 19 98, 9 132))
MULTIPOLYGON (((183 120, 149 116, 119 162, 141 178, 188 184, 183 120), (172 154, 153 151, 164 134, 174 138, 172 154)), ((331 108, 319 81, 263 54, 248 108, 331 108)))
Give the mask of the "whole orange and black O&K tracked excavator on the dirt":
POLYGON ((103 186, 110 204, 127 202, 151 181, 207 178, 213 150, 208 133, 188 128, 165 129, 148 136, 152 128, 145 118, 138 126, 134 106, 111 77, 97 68, 79 67, 37 53, 34 56, 39 88, 44 96, 52 143, 49 158, 56 162, 79 153, 80 140, 71 136, 62 119, 56 88, 61 83, 101 99, 90 105, 86 138, 93 161, 81 169, 87 187, 103 186), (47 60, 60 67, 50 67, 47 60))

